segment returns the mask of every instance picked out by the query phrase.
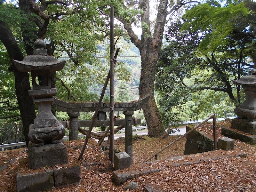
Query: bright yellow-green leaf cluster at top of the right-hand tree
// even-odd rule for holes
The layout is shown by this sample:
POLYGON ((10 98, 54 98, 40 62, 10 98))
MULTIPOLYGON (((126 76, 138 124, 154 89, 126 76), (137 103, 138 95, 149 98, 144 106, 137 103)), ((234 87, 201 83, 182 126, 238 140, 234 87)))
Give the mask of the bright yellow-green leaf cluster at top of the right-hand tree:
POLYGON ((201 33, 200 36, 203 38, 198 50, 207 54, 216 51, 220 46, 228 46, 230 39, 227 36, 236 29, 240 18, 246 18, 248 15, 249 10, 244 6, 244 3, 228 4, 221 7, 218 3, 207 2, 186 11, 183 15, 184 24, 181 30, 201 33))

